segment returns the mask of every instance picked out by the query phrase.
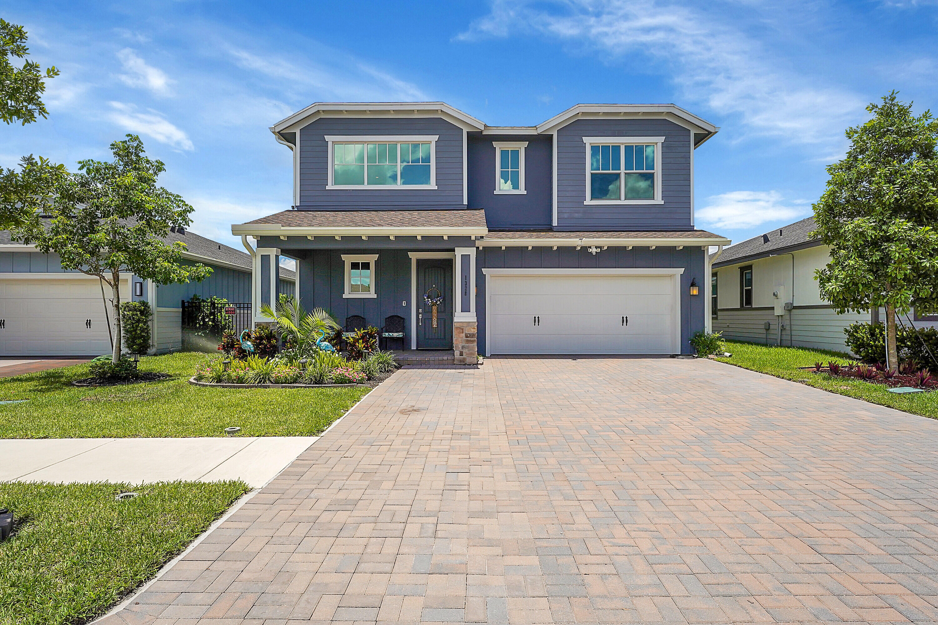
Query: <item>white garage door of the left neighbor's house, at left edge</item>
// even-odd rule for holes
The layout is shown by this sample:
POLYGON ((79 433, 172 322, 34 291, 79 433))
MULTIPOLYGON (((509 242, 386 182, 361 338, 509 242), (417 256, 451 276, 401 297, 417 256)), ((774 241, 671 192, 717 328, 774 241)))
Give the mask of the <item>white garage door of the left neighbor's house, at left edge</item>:
MULTIPOLYGON (((122 298, 127 290, 124 281, 122 298)), ((105 285, 105 294, 108 291, 105 285)), ((111 351, 97 278, 0 279, 0 320, 0 356, 92 356, 111 351)))

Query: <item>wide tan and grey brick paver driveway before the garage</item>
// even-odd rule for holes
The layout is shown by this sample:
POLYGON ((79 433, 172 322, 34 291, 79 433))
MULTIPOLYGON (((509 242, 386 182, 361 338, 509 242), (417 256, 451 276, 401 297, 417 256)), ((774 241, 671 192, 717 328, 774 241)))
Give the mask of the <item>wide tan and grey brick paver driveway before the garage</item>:
POLYGON ((404 370, 108 625, 930 622, 936 440, 711 361, 404 370))

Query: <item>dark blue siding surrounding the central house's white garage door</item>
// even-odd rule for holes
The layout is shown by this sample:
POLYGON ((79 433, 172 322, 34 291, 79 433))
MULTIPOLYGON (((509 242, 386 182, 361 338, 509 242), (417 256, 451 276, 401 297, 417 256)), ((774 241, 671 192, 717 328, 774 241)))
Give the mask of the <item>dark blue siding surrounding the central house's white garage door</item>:
POLYGON ((478 350, 479 353, 486 353, 486 290, 485 275, 483 268, 505 269, 505 268, 524 268, 524 269, 547 269, 547 268, 574 268, 574 269, 594 269, 594 268, 665 268, 665 267, 683 267, 684 273, 681 275, 681 351, 682 353, 692 353, 690 347, 690 336, 703 330, 705 310, 705 291, 700 290, 700 295, 690 295, 690 281, 696 279, 697 284, 703 284, 702 276, 705 271, 704 251, 700 246, 687 246, 683 249, 677 249, 673 246, 662 246, 656 249, 647 247, 609 247, 598 252, 596 255, 590 254, 586 248, 576 249, 575 247, 558 247, 551 249, 547 246, 535 246, 533 249, 527 247, 481 247, 477 252, 477 324, 478 324, 478 350))

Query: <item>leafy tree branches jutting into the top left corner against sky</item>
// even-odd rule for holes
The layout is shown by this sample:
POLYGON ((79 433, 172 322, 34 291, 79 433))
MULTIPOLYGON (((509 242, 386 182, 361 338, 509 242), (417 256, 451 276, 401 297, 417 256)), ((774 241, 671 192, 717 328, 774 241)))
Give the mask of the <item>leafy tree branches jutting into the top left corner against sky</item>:
POLYGON ((20 120, 23 126, 35 122, 37 115, 49 115, 41 96, 46 80, 59 74, 53 66, 47 67, 43 76, 36 61, 26 60, 23 67, 10 63, 10 57, 25 59, 29 55, 25 41, 23 26, 0 18, 0 120, 7 124, 20 120))

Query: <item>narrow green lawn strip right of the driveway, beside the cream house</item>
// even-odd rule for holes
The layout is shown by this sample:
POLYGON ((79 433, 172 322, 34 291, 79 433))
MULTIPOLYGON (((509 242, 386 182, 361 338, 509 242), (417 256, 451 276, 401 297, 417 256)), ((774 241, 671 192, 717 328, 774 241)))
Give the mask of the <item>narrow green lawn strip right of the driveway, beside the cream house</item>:
POLYGON ((819 361, 826 365, 827 361, 830 360, 841 364, 855 360, 847 354, 805 348, 771 348, 736 341, 723 341, 723 346, 733 356, 731 358, 718 358, 717 360, 722 363, 730 363, 753 371, 761 371, 777 378, 793 379, 831 393, 849 395, 873 404, 920 414, 923 417, 938 418, 938 392, 889 393, 886 391, 886 387, 881 384, 872 384, 855 378, 832 377, 825 373, 816 374, 798 368, 813 366, 814 363, 819 361))

